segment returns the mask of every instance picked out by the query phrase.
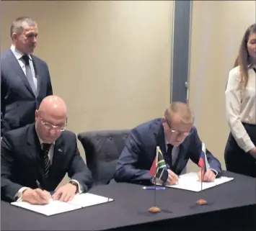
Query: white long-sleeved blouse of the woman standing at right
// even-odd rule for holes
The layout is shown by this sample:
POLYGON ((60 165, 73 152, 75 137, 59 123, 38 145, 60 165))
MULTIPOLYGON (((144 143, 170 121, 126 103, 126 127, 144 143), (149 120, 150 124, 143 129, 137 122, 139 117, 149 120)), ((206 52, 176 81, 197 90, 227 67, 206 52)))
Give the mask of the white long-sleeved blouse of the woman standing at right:
MULTIPOLYGON (((255 67, 255 66, 254 66, 255 67)), ((240 85, 239 67, 229 72, 226 86, 226 119, 234 139, 244 152, 255 148, 254 143, 244 129, 242 122, 256 124, 256 74, 253 66, 248 70, 248 83, 246 88, 240 85)))

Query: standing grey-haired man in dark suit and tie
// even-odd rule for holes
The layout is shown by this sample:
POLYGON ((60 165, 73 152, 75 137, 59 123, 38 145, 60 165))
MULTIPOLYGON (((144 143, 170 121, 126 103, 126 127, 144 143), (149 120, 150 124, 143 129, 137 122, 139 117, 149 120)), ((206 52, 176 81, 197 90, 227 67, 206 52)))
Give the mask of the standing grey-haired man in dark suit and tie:
POLYGON ((53 94, 48 65, 32 55, 37 34, 29 17, 12 22, 12 46, 1 54, 1 137, 31 124, 40 102, 53 94))

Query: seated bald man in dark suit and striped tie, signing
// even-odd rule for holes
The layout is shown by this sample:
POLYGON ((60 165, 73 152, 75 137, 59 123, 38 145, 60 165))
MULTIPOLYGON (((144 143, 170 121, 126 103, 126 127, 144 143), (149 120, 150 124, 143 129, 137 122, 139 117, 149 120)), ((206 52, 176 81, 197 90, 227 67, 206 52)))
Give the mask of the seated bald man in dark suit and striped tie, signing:
POLYGON ((35 110, 35 123, 6 132, 1 140, 1 199, 48 204, 50 192, 53 199, 69 201, 92 186, 76 135, 66 125, 65 102, 47 96, 35 110), (66 173, 71 180, 56 190, 66 173))

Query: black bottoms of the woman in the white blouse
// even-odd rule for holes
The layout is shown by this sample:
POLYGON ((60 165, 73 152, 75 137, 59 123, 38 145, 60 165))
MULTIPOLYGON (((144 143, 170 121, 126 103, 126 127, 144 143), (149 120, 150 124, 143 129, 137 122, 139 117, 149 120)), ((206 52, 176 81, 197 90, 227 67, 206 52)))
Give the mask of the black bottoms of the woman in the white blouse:
MULTIPOLYGON (((256 145, 256 125, 245 123, 243 125, 252 142, 256 145)), ((226 142, 224 158, 227 171, 256 177, 256 159, 249 152, 245 153, 239 148, 231 132, 226 142)))

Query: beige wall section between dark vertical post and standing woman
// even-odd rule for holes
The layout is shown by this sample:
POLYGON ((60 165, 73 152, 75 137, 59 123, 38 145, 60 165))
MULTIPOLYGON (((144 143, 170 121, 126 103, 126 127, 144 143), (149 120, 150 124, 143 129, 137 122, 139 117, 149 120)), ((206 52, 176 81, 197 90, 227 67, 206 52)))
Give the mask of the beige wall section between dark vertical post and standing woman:
MULTIPOLYGON (((224 87, 242 36, 255 23, 255 9, 255 1, 193 1, 190 105, 201 140, 224 168, 224 148, 229 134, 224 87)), ((190 163, 188 170, 194 169, 198 168, 190 163)))

